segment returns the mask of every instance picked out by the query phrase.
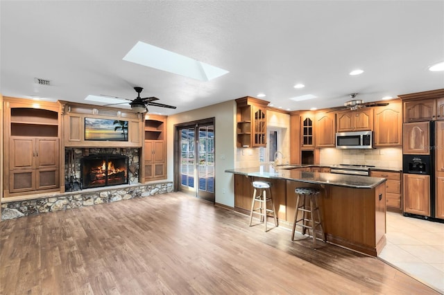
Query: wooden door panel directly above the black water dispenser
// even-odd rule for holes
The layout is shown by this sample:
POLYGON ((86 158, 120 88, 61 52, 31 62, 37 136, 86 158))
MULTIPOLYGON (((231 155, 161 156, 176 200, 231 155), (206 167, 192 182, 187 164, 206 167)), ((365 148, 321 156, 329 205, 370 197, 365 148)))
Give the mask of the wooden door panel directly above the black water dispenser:
POLYGON ((403 154, 430 154, 429 122, 404 123, 403 154))

